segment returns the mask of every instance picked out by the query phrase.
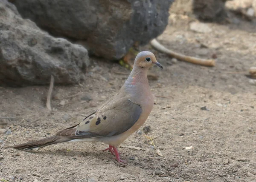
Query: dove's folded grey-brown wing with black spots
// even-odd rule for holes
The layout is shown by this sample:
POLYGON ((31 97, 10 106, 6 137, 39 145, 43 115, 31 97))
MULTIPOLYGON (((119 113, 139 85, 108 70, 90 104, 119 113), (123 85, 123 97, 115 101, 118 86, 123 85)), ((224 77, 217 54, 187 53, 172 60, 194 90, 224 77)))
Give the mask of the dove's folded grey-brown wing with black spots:
POLYGON ((86 117, 76 128, 59 131, 57 135, 79 139, 115 136, 131 128, 141 112, 140 105, 123 97, 104 105, 86 117))

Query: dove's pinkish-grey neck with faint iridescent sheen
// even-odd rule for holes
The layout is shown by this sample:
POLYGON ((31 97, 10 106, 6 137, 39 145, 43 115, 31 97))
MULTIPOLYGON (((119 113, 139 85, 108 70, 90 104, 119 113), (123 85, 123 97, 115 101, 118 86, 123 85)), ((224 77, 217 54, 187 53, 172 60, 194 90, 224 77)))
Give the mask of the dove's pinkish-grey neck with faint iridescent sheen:
POLYGON ((148 77, 147 77, 148 68, 134 67, 129 75, 128 79, 125 82, 125 87, 129 88, 149 88, 148 77))

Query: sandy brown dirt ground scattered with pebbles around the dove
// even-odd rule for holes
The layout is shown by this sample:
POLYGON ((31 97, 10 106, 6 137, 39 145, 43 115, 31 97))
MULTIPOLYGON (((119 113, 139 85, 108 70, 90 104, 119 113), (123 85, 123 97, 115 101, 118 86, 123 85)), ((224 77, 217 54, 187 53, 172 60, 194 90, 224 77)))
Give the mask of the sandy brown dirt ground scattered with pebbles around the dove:
POLYGON ((159 79, 150 80, 155 105, 140 128, 143 134, 132 134, 119 148, 126 167, 102 152, 107 147, 102 143, 62 143, 31 152, 3 149, 81 122, 119 90, 130 72, 126 68, 92 58, 81 85, 54 87, 52 112, 45 107, 48 86, 0 87, 0 128, 8 130, 0 137, 0 181, 255 182, 256 85, 244 71, 256 66, 256 21, 234 20, 207 23, 212 32, 197 33, 189 29, 194 20, 170 14, 158 37, 183 54, 216 56, 212 68, 172 63, 150 46, 141 48, 153 51, 164 69, 150 70, 159 79), (151 127, 146 135, 155 146, 144 126, 151 127))

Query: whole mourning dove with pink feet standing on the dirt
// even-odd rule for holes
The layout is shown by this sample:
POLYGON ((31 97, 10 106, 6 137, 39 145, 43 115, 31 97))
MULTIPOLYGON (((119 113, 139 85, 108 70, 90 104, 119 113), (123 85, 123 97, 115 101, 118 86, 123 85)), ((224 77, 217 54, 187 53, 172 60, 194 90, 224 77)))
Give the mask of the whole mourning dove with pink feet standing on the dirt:
POLYGON ((53 137, 6 148, 29 150, 61 142, 104 142, 109 145, 104 151, 110 151, 119 163, 123 163, 116 148, 143 125, 154 105, 147 79, 148 68, 152 65, 163 68, 153 53, 140 52, 119 92, 81 123, 53 137))

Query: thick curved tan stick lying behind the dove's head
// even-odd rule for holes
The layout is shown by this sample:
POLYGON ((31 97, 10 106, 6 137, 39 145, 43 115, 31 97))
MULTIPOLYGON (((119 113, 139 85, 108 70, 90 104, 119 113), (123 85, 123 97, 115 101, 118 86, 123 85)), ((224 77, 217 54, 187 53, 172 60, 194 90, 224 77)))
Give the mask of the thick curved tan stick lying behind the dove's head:
POLYGON ((203 66, 215 66, 215 60, 206 60, 206 59, 201 59, 197 57, 191 57, 191 56, 186 56, 184 54, 179 54, 175 51, 172 51, 159 42, 157 42, 156 39, 151 40, 150 42, 151 46, 153 46, 157 51, 166 53, 172 57, 175 57, 176 59, 183 60, 189 63, 193 63, 196 65, 203 65, 203 66))

